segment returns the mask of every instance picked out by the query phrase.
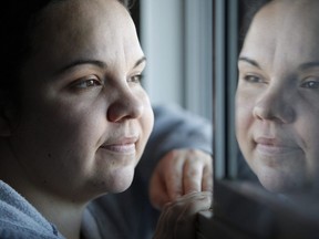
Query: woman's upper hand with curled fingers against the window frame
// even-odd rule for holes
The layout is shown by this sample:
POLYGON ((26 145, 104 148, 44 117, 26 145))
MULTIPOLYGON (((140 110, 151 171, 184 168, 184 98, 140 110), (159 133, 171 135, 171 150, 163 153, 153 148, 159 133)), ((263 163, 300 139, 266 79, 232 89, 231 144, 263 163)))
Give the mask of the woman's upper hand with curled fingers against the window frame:
POLYGON ((157 164, 150 183, 152 205, 161 209, 192 191, 213 190, 212 156, 197 149, 174 149, 157 164))

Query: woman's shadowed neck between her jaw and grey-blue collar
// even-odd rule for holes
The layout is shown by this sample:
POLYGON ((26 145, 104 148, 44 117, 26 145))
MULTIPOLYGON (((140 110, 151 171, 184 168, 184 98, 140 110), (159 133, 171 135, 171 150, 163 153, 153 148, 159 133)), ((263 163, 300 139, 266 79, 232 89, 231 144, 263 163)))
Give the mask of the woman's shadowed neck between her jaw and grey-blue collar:
MULTIPOLYGON (((21 165, 14 160, 11 152, 3 147, 0 139, 0 178, 21 194, 33 207, 41 212, 68 239, 79 239, 81 231, 82 214, 86 206, 85 200, 73 201, 68 197, 59 197, 50 193, 48 187, 35 185, 28 180, 21 165), (14 174, 12 175, 12 172, 14 174)), ((76 197, 75 197, 76 198, 76 197)))

